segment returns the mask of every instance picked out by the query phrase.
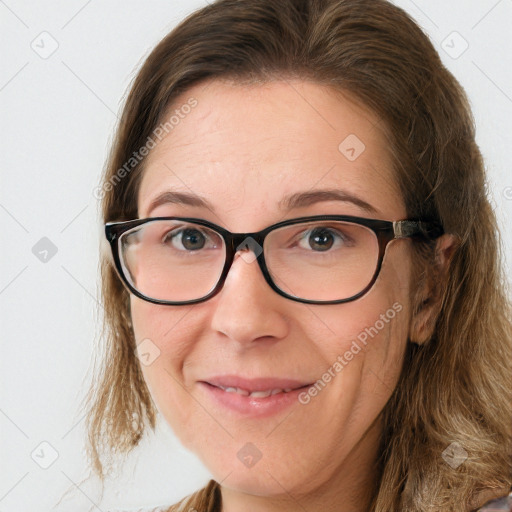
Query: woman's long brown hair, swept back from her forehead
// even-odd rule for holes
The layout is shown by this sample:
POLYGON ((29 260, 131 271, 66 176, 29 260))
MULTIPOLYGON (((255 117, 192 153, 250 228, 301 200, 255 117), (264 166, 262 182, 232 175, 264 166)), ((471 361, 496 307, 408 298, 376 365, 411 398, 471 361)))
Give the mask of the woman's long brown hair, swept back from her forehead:
MULTIPOLYGON (((188 16, 133 82, 103 176, 103 220, 137 216, 144 161, 119 171, 178 94, 206 79, 291 77, 370 107, 389 137, 408 217, 437 220, 460 241, 446 286, 434 286, 441 307, 433 334, 407 344, 383 411, 371 510, 477 506, 484 490, 512 483, 510 305, 468 100, 402 9, 385 0, 219 0, 188 16), (467 452, 457 468, 443 459, 449 446, 467 452)), ((435 275, 435 254, 427 246, 415 258, 419 290, 435 275)), ((91 466, 103 478, 102 456, 129 452, 154 429, 156 410, 135 356, 129 294, 106 255, 101 276, 105 354, 87 397, 87 428, 91 466)), ((422 301, 413 294, 414 313, 422 301)), ((187 506, 215 510, 219 496, 210 482, 187 506)))

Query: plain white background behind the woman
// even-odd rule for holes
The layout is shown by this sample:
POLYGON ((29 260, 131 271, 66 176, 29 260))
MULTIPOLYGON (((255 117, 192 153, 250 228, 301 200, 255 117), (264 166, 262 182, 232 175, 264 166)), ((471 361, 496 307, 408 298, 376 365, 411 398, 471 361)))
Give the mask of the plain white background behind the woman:
MULTIPOLYGON (((512 0, 396 3, 428 32, 469 95, 510 253, 512 0), (464 40, 469 46, 457 56, 464 40)), ((0 512, 49 511, 69 487, 81 501, 65 502, 62 510, 170 504, 209 478, 160 424, 123 475, 107 482, 102 498, 95 482, 80 484, 87 469, 78 409, 101 309, 102 230, 92 192, 135 71, 165 34, 203 5, 0 0, 0 512), (42 58, 52 44, 56 51, 42 58), (43 237, 57 249, 47 262, 32 252, 43 237), (51 462, 52 450, 58 457, 43 469, 39 464, 51 462)))

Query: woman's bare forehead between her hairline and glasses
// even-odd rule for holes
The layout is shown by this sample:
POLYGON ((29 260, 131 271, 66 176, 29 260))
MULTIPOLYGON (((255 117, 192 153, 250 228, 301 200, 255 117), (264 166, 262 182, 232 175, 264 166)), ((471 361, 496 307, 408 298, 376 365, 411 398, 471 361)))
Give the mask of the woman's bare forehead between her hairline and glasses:
MULTIPOLYGON (((329 87, 213 80, 176 98, 166 120, 172 123, 146 157, 140 217, 167 190, 205 198, 212 208, 204 214, 243 219, 245 229, 255 226, 255 214, 274 222, 284 196, 307 190, 341 189, 381 218, 405 214, 379 119, 329 87)), ((337 208, 361 213, 354 205, 337 208)))

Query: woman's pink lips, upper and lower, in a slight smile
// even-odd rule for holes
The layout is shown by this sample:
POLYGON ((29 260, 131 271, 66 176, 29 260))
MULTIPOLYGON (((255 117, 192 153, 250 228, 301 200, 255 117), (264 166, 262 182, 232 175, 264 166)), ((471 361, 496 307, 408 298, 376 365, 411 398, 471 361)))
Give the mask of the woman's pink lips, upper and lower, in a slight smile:
POLYGON ((223 375, 210 377, 198 381, 198 384, 208 395, 209 400, 244 416, 268 417, 291 407, 298 402, 301 392, 313 383, 304 383, 296 379, 284 378, 257 378, 246 379, 237 375, 223 375), (223 388, 240 388, 249 393, 254 391, 267 391, 272 389, 291 389, 286 393, 279 392, 267 397, 244 396, 235 392, 225 391, 223 388))

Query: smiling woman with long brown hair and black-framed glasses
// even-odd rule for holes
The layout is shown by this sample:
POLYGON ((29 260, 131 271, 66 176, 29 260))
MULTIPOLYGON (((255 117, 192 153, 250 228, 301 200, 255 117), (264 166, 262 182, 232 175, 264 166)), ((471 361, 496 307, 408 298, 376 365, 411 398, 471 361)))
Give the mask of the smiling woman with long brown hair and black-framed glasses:
POLYGON ((195 12, 138 73, 98 196, 98 475, 158 411, 213 477, 169 510, 468 511, 509 492, 496 220, 465 93, 404 11, 195 12))

